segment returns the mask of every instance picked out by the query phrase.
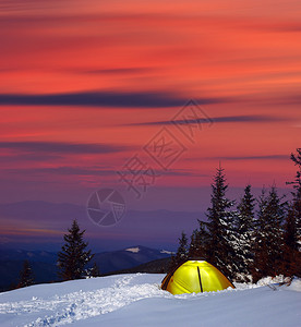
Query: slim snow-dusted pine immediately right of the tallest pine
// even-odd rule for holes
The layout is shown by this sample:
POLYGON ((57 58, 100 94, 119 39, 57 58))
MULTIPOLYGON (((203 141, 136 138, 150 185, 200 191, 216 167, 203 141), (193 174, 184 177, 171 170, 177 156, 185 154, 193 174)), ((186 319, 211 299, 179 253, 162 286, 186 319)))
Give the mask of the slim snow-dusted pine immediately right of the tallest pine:
POLYGON ((238 205, 236 219, 236 233, 238 238, 236 258, 239 276, 237 280, 249 281, 248 275, 253 263, 253 238, 254 238, 254 207, 255 198, 251 193, 251 185, 244 189, 244 195, 238 205))

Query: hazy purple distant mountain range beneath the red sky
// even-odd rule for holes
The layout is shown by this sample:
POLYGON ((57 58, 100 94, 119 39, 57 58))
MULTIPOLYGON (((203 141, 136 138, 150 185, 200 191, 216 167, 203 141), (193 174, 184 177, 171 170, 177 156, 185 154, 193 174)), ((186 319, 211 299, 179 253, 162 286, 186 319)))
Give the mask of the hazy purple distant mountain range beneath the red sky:
POLYGON ((132 244, 176 249, 181 232, 190 234, 198 227, 197 219, 206 217, 201 211, 129 208, 116 226, 105 230, 89 219, 85 204, 45 201, 0 204, 0 221, 3 226, 0 230, 0 246, 58 251, 62 245, 63 233, 73 219, 77 220, 81 229, 86 230, 85 238, 93 251, 106 251, 132 244))

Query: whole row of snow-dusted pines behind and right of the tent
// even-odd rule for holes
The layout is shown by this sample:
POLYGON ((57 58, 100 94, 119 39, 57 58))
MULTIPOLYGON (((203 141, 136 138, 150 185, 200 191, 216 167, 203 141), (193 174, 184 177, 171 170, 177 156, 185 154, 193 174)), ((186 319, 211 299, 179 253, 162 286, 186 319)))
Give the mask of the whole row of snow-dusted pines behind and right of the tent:
POLYGON ((301 277, 301 149, 291 154, 298 167, 291 201, 279 196, 276 185, 258 198, 248 184, 239 202, 227 197, 225 170, 219 167, 212 184, 207 221, 190 238, 184 232, 171 258, 170 270, 192 257, 205 258, 228 278, 253 281, 265 276, 301 277), (257 204, 257 206, 256 206, 257 204))

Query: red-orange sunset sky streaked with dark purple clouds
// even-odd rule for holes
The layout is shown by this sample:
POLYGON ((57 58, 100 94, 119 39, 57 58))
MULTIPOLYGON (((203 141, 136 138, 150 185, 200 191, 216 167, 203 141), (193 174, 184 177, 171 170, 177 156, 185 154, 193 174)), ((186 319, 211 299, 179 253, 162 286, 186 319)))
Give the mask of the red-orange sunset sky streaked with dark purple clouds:
POLYGON ((0 1, 0 202, 85 206, 109 187, 130 209, 204 211, 219 165, 233 197, 289 192, 300 15, 299 0, 0 1))

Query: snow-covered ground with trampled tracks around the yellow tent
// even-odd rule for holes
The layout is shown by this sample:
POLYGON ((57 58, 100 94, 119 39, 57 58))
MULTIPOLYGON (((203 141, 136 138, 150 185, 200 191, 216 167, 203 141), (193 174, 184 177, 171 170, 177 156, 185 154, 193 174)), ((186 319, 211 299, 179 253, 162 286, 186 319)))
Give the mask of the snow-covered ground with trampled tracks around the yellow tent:
POLYGON ((301 280, 172 295, 159 288, 164 276, 117 275, 0 293, 0 326, 301 326, 301 280))

